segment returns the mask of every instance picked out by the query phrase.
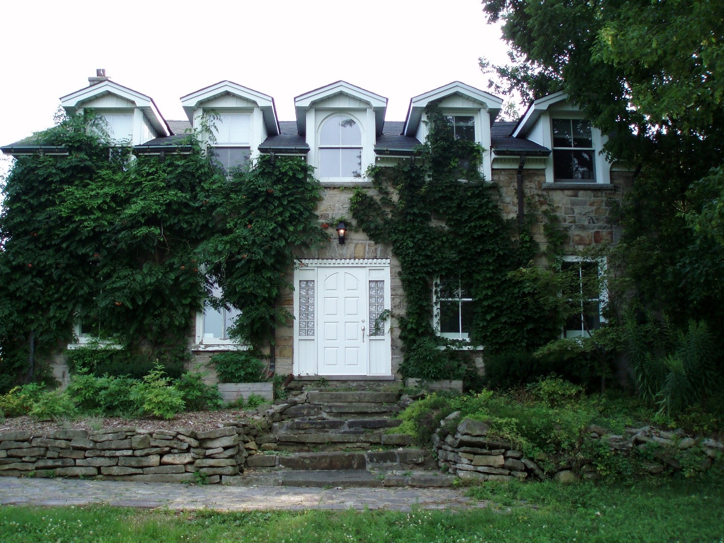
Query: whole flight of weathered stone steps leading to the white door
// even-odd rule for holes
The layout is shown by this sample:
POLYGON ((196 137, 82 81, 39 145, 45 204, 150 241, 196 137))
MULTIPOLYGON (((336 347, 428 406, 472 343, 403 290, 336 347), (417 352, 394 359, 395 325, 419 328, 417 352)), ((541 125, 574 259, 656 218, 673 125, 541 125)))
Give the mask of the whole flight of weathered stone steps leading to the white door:
POLYGON ((427 450, 400 425, 397 392, 295 391, 266 411, 269 433, 246 471, 227 482, 244 486, 447 487, 427 450), (231 480, 233 479, 233 481, 231 480))

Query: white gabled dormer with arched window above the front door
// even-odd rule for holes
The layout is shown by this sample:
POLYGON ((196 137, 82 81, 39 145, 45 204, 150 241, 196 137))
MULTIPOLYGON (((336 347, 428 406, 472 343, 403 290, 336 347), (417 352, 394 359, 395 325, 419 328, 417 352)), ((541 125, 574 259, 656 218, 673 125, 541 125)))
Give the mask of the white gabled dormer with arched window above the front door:
POLYGON ((324 184, 365 180, 374 164, 387 98, 337 81, 294 98, 297 131, 309 146, 308 163, 324 184))

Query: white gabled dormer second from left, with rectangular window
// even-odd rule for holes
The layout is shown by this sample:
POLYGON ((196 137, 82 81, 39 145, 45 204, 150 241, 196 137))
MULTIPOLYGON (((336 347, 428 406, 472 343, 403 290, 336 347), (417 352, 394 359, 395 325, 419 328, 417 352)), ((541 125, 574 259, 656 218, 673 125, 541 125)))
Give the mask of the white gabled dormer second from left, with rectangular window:
POLYGON ((267 136, 279 134, 274 98, 232 81, 220 81, 181 97, 181 105, 193 129, 214 147, 224 168, 240 166, 258 155, 267 136), (209 120, 213 138, 203 132, 209 120))

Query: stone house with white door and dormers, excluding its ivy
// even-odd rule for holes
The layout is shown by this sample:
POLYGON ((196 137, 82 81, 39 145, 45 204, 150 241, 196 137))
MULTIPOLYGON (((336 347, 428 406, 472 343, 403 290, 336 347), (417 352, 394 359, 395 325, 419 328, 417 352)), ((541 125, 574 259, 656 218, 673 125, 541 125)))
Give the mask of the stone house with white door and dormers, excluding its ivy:
MULTIPOLYGON (((576 254, 582 248, 616 240, 611 201, 620 198, 631 180, 626 168, 610 163, 600 152, 606 136, 564 93, 536 100, 518 122, 502 122, 497 120, 501 98, 453 82, 414 96, 406 118, 393 121, 386 119, 387 98, 337 81, 297 96, 296 118, 280 121, 274 98, 221 81, 182 96, 187 119, 167 120, 152 98, 111 81, 104 71, 89 82, 63 96, 62 107, 69 114, 93 108, 104 115, 111 135, 130 141, 134 153, 182 151, 185 132, 204 133, 201 119, 213 112, 218 122, 207 150, 223 167, 244 164, 262 153, 305 157, 316 168, 324 191, 317 209, 322 222, 349 216, 350 188, 371 188, 365 177, 368 167, 397 164, 412 156, 428 134, 429 104, 439 106, 456 138, 473 140, 486 150, 482 173, 505 218, 523 213, 521 195, 550 203, 565 225, 565 251, 570 253, 566 260, 571 266, 578 265, 576 254)), ((63 151, 22 141, 1 150, 13 156, 63 151)), ((395 314, 405 306, 399 262, 390 248, 363 232, 344 234, 345 243, 332 236, 323 248, 298 254, 294 290, 279 300, 295 319, 289 327, 277 329, 276 371, 308 379, 395 380, 403 358, 395 314), (381 333, 373 332, 371 323, 385 310, 392 311, 392 319, 384 322, 381 333)), ((534 224, 534 236, 546 243, 541 222, 534 224)), ((453 295, 457 309, 447 304, 453 309, 446 311, 455 314, 437 318, 439 334, 467 339, 463 308, 471 300, 464 296, 460 291, 453 295)), ((601 305, 601 300, 591 301, 601 305)), ((189 340, 196 361, 243 348, 227 337, 234 316, 234 311, 212 308, 198 314, 189 340)), ((598 326, 601 316, 586 318, 591 320, 588 327, 574 319, 563 333, 586 334, 586 329, 598 326)), ((92 339, 80 323, 75 335, 77 343, 69 348, 92 339)))

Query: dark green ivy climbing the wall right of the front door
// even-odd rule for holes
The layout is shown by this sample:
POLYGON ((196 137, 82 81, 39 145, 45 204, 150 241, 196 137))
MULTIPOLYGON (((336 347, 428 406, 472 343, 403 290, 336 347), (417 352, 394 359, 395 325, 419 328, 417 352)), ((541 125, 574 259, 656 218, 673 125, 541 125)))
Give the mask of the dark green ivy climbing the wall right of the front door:
MULTIPOLYGON (((461 376, 455 342, 433 329, 439 277, 471 285, 472 345, 487 353, 529 350, 556 337, 562 324, 551 300, 557 292, 526 274, 536 243, 526 224, 517 231, 492 198, 480 173, 483 149, 455 139, 439 110, 430 108, 429 137, 413 159, 371 170, 377 195, 358 189, 350 210, 372 240, 387 243, 401 265, 405 314, 398 316, 406 376, 461 376), (444 345, 449 348, 440 350, 444 345)), ((459 345, 457 345, 459 346, 459 345)))

